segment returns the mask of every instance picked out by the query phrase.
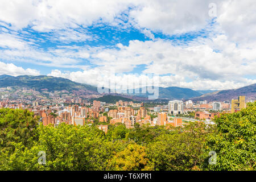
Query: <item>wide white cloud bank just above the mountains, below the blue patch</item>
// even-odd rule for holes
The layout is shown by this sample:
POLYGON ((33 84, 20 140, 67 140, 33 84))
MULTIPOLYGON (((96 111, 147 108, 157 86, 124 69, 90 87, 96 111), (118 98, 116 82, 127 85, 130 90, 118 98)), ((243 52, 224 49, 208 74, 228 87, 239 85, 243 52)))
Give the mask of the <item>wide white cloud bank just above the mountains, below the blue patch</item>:
MULTIPOLYGON (((52 76, 69 78, 77 82, 97 85, 98 75, 114 69, 116 73, 131 72, 138 65, 146 65, 144 73, 163 76, 160 86, 181 86, 194 89, 226 89, 253 84, 255 80, 244 78, 255 75, 255 49, 238 48, 229 42, 225 35, 212 39, 194 40, 187 46, 176 46, 170 40, 155 39, 142 42, 133 40, 128 46, 117 44, 116 47, 70 47, 63 46, 48 51, 33 49, 26 45, 21 49, 0 50, 2 60, 23 61, 48 67, 80 68, 84 71, 61 73, 53 71, 52 76), (220 52, 216 51, 220 50, 220 52), (91 68, 82 60, 88 60, 96 66, 91 68), (192 82, 186 82, 189 78, 192 82)), ((104 77, 104 76, 102 76, 104 77)), ((136 80, 139 76, 124 76, 136 80)), ((120 84, 123 77, 112 77, 120 84)))

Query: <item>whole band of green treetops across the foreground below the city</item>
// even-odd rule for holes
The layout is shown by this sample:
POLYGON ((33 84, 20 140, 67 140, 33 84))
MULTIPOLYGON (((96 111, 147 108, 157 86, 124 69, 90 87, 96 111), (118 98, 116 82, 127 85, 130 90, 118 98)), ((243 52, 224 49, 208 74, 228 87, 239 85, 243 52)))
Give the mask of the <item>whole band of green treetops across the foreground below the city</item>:
POLYGON ((37 121, 27 110, 0 109, 1 170, 256 168, 256 102, 215 118, 216 125, 191 122, 168 130, 138 124, 126 129, 119 124, 110 125, 105 134, 93 125, 53 127, 37 121), (39 163, 40 151, 46 154, 45 164, 39 163))

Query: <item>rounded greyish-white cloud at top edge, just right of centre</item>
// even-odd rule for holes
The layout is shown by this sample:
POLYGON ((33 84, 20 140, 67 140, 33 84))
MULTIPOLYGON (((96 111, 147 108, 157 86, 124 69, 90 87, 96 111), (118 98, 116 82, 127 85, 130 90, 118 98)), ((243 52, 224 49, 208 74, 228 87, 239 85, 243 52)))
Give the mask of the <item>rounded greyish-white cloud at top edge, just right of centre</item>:
POLYGON ((204 28, 211 17, 210 1, 143 1, 131 10, 130 19, 141 28, 174 35, 204 28))

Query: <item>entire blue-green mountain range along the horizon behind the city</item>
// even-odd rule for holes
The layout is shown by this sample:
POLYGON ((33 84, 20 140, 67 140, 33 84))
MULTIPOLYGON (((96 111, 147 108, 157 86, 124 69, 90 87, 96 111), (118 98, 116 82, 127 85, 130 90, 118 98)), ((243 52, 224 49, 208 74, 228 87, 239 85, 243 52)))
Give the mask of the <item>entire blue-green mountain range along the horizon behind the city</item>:
MULTIPOLYGON (((3 87, 25 87, 30 89, 35 89, 36 91, 42 92, 47 90, 48 92, 67 90, 68 92, 82 92, 85 94, 96 94, 97 87, 81 84, 68 80, 67 78, 53 77, 53 76, 10 76, 10 75, 0 75, 0 88, 3 87)), ((142 93, 142 90, 148 90, 146 88, 137 88, 132 90, 133 93, 128 94, 129 90, 125 90, 125 93, 114 94, 116 96, 122 96, 130 98, 132 100, 147 100, 147 97, 152 95, 148 92, 142 93)), ((150 87, 151 88, 151 87, 150 87)), ((176 86, 171 86, 167 88, 158 87, 159 99, 163 100, 230 100, 234 97, 243 95, 246 97, 254 98, 256 94, 256 84, 245 86, 239 89, 231 90, 192 90, 188 88, 180 88, 176 86)))

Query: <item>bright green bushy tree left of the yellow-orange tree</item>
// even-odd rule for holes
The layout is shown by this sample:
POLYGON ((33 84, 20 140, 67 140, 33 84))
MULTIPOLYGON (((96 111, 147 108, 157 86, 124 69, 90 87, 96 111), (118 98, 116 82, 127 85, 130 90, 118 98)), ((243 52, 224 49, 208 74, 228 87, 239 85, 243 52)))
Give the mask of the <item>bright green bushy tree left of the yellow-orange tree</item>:
POLYGON ((121 142, 108 142, 93 126, 40 126, 39 139, 32 147, 11 143, 12 154, 0 156, 3 170, 105 170, 114 152, 123 150, 121 142), (38 152, 46 152, 46 164, 38 163, 38 152))

